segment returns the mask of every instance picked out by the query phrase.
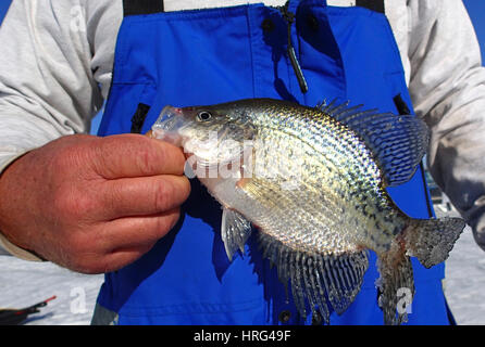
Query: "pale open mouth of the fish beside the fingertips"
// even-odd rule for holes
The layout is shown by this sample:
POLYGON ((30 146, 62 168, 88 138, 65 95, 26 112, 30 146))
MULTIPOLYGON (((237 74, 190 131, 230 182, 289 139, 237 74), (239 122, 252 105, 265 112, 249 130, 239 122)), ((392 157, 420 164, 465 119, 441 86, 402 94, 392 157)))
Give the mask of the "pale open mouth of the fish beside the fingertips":
POLYGON ((181 129, 185 125, 186 121, 184 120, 182 108, 166 105, 151 127, 152 137, 181 146, 181 129))

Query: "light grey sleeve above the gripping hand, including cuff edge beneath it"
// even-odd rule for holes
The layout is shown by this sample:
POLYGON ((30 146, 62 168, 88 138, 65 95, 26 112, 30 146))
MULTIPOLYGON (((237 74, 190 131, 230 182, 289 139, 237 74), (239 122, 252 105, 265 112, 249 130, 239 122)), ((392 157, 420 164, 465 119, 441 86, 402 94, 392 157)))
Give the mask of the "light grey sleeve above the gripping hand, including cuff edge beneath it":
MULTIPOLYGON (((0 175, 33 149, 89 131, 122 18, 122 1, 12 1, 0 27, 0 175)), ((2 245, 35 258, 0 234, 2 245)))

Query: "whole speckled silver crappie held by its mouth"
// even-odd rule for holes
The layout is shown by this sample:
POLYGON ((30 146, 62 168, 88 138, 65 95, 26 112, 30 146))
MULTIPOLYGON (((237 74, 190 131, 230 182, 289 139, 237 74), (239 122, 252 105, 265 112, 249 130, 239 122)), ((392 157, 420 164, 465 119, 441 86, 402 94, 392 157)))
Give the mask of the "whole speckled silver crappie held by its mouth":
POLYGON ((426 268, 444 261, 464 228, 459 218, 412 219, 386 191, 408 181, 425 154, 428 129, 418 117, 251 99, 166 106, 152 137, 184 147, 221 203, 229 259, 257 227, 263 256, 303 317, 343 313, 372 249, 384 322, 406 321, 397 304, 402 288, 414 295, 410 256, 426 268))

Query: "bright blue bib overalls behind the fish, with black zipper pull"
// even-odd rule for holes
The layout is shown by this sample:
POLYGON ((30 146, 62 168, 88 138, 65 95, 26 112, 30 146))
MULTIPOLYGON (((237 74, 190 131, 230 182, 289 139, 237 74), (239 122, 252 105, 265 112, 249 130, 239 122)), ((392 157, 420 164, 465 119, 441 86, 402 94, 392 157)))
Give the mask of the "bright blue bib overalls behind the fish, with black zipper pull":
MULTIPOLYGON (((278 9, 248 4, 159 10, 148 5, 145 13, 125 13, 99 136, 145 133, 166 104, 246 98, 309 106, 337 98, 381 112, 398 114, 406 106, 412 112, 398 48, 382 13, 328 7, 322 0, 289 2, 288 11, 295 14, 290 37, 309 86, 303 93, 287 54, 288 25, 278 9)), ((311 314, 300 317, 291 297, 287 300, 256 237, 248 241, 245 255, 228 261, 220 235, 221 207, 197 179, 191 189, 178 224, 142 258, 105 274, 94 322, 311 324, 311 314)), ((421 169, 389 192, 409 216, 433 215, 421 169)), ((371 252, 361 292, 344 314, 332 313, 331 324, 383 323, 375 261, 371 252)), ((412 261, 415 297, 408 307, 409 324, 449 324, 444 265, 426 270, 412 261)))

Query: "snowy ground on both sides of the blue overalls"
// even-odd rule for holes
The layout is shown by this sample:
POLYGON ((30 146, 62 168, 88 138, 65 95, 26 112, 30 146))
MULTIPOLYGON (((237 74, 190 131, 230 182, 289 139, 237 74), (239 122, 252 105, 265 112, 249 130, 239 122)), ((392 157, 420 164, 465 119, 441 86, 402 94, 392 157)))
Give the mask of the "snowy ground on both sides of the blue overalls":
MULTIPOLYGON (((485 324, 485 252, 469 228, 447 260, 445 293, 458 324, 485 324)), ((57 295, 26 324, 89 324, 102 275, 0 254, 0 307, 25 307, 57 295)))

